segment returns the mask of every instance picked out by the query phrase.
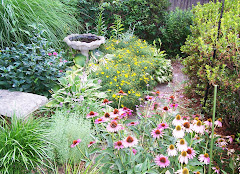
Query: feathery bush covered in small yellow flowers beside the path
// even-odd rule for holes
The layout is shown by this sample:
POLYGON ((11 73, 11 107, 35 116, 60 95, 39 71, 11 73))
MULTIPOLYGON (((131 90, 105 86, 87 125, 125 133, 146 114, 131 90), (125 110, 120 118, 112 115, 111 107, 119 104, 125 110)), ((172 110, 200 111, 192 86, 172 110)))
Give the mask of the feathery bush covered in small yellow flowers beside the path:
POLYGON ((102 49, 108 54, 106 62, 100 66, 90 64, 90 68, 98 67, 92 75, 102 80, 101 90, 109 91, 110 100, 118 100, 116 93, 120 90, 127 93, 128 97, 122 98, 123 106, 133 109, 142 92, 156 85, 156 78, 161 82, 171 79, 170 60, 164 59, 162 52, 158 54, 154 47, 135 36, 128 40, 110 39, 102 49), (157 69, 161 76, 155 73, 157 69))

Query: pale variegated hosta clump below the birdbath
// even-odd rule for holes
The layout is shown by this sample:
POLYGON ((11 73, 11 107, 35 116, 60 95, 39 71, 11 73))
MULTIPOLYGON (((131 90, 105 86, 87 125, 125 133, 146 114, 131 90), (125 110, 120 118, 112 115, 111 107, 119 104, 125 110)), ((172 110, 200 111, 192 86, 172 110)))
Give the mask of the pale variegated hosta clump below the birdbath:
POLYGON ((59 86, 53 88, 52 99, 48 107, 75 108, 85 113, 86 107, 97 106, 106 94, 100 91, 97 79, 89 79, 82 69, 67 71, 66 76, 58 79, 59 86), (84 109, 85 108, 85 109, 84 109))

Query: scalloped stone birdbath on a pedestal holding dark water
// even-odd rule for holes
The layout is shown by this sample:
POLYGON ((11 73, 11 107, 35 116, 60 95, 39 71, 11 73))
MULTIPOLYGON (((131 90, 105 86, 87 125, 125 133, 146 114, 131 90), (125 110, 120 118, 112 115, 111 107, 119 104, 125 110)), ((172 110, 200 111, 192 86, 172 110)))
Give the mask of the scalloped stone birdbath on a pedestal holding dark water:
POLYGON ((71 34, 63 39, 68 46, 75 50, 79 50, 82 55, 86 56, 86 64, 89 61, 89 50, 98 48, 101 44, 105 43, 103 36, 97 36, 95 34, 71 34))

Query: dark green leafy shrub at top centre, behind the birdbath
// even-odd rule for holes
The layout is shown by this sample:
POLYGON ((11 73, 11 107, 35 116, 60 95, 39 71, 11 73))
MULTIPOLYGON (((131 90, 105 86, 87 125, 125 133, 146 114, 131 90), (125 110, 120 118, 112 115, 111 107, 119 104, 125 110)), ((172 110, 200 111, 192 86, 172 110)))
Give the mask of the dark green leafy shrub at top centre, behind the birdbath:
POLYGON ((109 28, 114 23, 114 14, 120 15, 125 29, 135 26, 135 35, 147 41, 159 36, 159 27, 163 16, 170 5, 168 0, 128 0, 103 3, 105 21, 109 28))

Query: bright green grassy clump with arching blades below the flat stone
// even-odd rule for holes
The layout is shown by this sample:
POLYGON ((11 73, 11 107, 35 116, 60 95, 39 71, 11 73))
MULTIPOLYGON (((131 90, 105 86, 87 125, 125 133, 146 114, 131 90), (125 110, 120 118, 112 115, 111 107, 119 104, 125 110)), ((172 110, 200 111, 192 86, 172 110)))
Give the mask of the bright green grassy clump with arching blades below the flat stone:
MULTIPOLYGON (((26 173, 49 167, 47 120, 0 118, 0 173, 26 173)), ((40 172, 40 171, 39 171, 40 172)), ((41 173, 41 172, 40 172, 41 173)))

